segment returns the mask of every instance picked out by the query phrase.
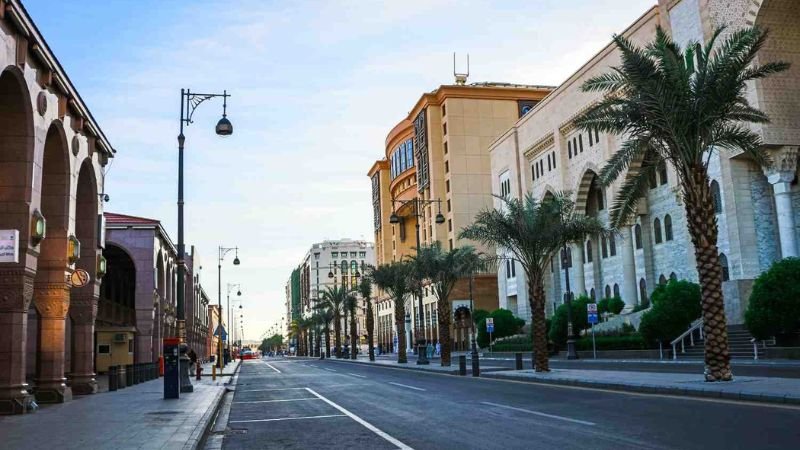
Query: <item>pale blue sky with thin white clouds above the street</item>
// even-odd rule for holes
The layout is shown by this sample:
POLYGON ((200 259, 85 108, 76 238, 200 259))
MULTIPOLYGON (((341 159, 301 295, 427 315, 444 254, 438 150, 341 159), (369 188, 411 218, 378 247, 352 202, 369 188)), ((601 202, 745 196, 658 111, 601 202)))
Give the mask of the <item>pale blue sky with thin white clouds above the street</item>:
MULTIPOLYGON (((419 97, 453 82, 558 85, 656 0, 23 0, 112 146, 106 211, 177 241, 180 89, 231 94, 184 132, 186 242, 217 301, 217 247, 245 339, 285 315, 311 244, 374 239, 367 171, 419 97), (463 68, 463 67, 460 67, 463 68)), ((225 299, 223 298, 223 306, 225 299)))

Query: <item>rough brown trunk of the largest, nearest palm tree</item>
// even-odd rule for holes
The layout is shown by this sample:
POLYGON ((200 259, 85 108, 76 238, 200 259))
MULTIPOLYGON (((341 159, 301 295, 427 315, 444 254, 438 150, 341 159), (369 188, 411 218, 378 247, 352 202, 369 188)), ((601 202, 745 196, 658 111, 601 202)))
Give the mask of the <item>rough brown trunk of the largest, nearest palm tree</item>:
POLYGON ((700 281, 705 334, 705 376, 706 381, 731 381, 733 373, 728 348, 728 325, 717 248, 717 216, 707 172, 698 169, 692 175, 692 182, 684 182, 683 190, 687 225, 694 244, 700 281))

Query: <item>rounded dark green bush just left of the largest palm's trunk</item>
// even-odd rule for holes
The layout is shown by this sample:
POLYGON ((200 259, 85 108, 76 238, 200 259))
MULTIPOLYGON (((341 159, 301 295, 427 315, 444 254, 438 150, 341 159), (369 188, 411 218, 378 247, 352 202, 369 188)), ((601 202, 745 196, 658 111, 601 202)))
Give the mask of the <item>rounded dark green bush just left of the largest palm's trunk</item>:
POLYGON ((667 343, 700 317, 700 286, 686 280, 670 280, 653 291, 652 308, 642 314, 639 332, 647 342, 667 343))

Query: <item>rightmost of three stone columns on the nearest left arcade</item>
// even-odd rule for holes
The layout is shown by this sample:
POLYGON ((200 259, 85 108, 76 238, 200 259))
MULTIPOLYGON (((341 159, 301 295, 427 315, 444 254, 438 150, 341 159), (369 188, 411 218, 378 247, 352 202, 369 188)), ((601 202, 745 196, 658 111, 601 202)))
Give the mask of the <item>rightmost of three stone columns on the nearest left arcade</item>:
POLYGON ((77 289, 70 295, 69 316, 72 319, 72 360, 74 371, 70 373, 70 387, 76 395, 97 393, 94 373, 94 322, 97 319, 95 283, 77 289))

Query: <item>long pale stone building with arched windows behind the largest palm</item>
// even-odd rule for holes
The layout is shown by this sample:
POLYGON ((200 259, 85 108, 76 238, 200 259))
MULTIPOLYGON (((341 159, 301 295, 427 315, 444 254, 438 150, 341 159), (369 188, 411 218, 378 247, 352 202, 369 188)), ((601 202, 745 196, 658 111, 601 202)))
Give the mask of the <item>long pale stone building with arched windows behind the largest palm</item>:
MULTIPOLYGON (((748 86, 751 103, 772 119, 754 129, 775 165, 762 169, 745 155, 719 149, 710 155, 723 289, 731 324, 743 321, 753 279, 777 259, 798 254, 800 35, 794 26, 798 19, 800 3, 790 0, 661 0, 623 31, 624 36, 643 44, 651 41, 656 27, 661 26, 686 45, 706 42, 720 25, 726 25, 725 33, 730 33, 755 24, 771 32, 759 59, 792 63, 789 71, 748 86)), ((490 145, 493 192, 514 197, 529 192, 542 199, 551 192, 570 191, 579 212, 608 221, 608 206, 623 177, 604 189, 597 175, 622 140, 580 132, 573 120, 600 95, 582 92, 581 84, 619 62, 618 51, 607 45, 490 145)), ((495 204, 499 206, 499 201, 495 204)), ((573 292, 597 299, 619 295, 630 309, 646 304, 656 285, 667 279, 697 280, 685 212, 671 167, 659 168, 635 221, 620 232, 619 237, 590 238, 569 250, 573 292)), ((498 273, 500 304, 529 318, 525 276, 514 264, 508 261, 498 273)), ((561 261, 552 262, 552 276, 546 280, 548 313, 566 292, 562 269, 561 261)))

